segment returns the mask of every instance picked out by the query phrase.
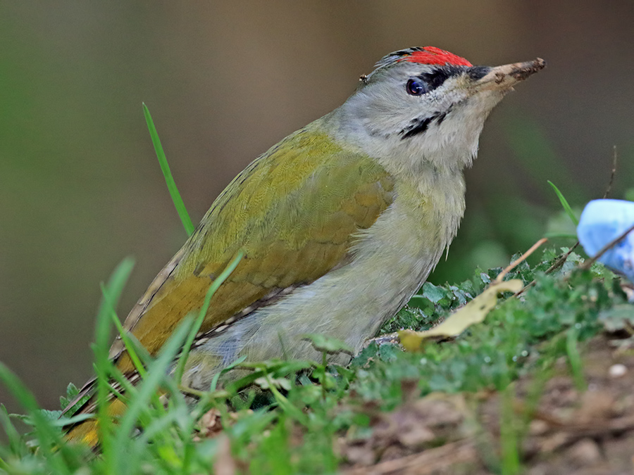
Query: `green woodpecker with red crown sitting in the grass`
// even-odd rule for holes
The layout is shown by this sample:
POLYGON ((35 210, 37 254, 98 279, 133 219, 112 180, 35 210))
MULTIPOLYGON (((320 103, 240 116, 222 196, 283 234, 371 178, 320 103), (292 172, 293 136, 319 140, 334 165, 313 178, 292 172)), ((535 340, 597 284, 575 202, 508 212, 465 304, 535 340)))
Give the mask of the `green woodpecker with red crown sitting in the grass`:
MULTIPOLYGON (((235 177, 125 329, 156 354, 244 251, 211 300, 185 385, 208 389, 214 374, 243 355, 318 358, 302 338, 309 333, 358 351, 420 288, 454 238, 465 208, 462 170, 475 158, 487 115, 544 66, 541 59, 473 66, 432 46, 388 54, 342 106, 235 177)), ((111 357, 137 379, 119 339, 111 357)), ((90 391, 92 384, 82 394, 90 391)), ((109 410, 119 414, 123 403, 113 400, 109 410)), ((95 445, 95 423, 78 424, 68 438, 95 445)))

